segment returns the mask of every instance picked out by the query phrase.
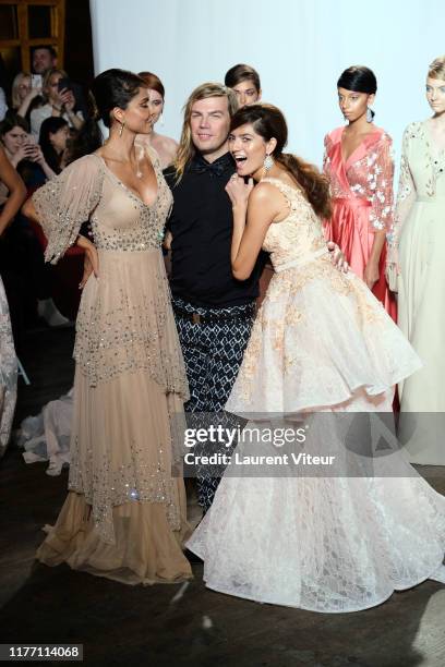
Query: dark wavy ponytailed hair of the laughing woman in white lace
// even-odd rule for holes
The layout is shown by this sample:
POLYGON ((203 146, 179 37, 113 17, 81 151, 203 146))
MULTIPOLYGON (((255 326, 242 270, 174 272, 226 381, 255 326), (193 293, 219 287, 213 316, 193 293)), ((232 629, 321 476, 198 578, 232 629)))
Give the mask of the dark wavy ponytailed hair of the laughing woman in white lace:
POLYGON ((230 130, 233 131, 245 123, 251 123, 256 134, 260 134, 265 142, 276 140, 277 145, 273 153, 275 161, 281 165, 302 187, 316 215, 329 218, 332 207, 328 179, 320 173, 314 165, 290 153, 282 153, 287 145, 288 129, 281 111, 273 105, 243 107, 233 116, 230 130))

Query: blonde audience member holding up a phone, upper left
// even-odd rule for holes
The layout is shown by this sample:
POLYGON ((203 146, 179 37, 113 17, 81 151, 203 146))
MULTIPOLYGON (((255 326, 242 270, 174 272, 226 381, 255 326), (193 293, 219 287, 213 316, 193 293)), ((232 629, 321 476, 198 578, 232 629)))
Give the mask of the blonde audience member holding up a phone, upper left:
MULTIPOLYGON (((37 137, 40 125, 47 118, 64 118, 70 128, 80 130, 83 123, 82 111, 76 111, 76 100, 71 87, 59 89, 59 82, 69 82, 63 70, 48 70, 45 74, 43 93, 46 104, 31 112, 31 131, 37 137)), ((71 84, 70 84, 71 85, 71 84)))

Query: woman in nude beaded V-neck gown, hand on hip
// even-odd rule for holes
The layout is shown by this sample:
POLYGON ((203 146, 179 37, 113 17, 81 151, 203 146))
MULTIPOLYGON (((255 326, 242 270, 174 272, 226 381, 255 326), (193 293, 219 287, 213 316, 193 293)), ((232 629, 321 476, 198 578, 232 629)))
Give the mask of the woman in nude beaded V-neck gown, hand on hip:
POLYGON ((123 583, 178 582, 191 569, 171 436, 188 385, 160 251, 171 194, 156 154, 134 146, 152 120, 144 82, 108 70, 93 92, 109 141, 25 206, 47 260, 77 240, 94 268, 76 322, 69 494, 37 558, 123 583), (87 219, 94 245, 79 237, 87 219))

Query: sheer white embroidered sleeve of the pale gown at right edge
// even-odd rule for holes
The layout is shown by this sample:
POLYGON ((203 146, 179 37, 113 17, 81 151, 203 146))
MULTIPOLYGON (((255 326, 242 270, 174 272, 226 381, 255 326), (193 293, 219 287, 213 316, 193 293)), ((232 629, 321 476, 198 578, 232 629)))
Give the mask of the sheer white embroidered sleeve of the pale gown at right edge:
POLYGON ((408 217, 413 202, 416 201, 416 185, 408 161, 409 135, 410 130, 409 128, 407 128, 404 133, 401 147, 400 175, 397 192, 396 213, 394 216, 393 226, 388 233, 389 264, 397 264, 397 248, 399 244, 401 227, 404 225, 404 221, 408 217))

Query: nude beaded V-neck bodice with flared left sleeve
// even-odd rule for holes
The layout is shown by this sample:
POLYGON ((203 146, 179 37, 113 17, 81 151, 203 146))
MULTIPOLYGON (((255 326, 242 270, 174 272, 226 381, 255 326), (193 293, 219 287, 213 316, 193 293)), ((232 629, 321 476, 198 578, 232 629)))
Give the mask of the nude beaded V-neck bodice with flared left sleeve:
POLYGON ((47 260, 58 262, 87 220, 92 221, 94 243, 99 251, 159 248, 172 195, 156 153, 145 149, 157 180, 157 195, 151 206, 96 154, 80 158, 34 194, 37 217, 48 239, 47 260))

